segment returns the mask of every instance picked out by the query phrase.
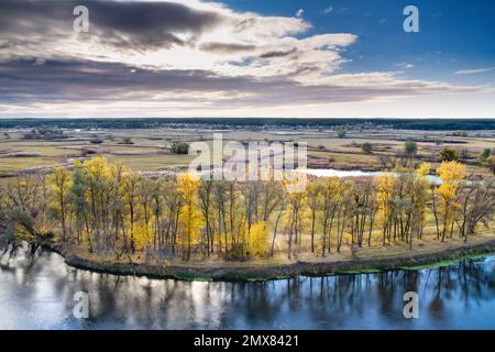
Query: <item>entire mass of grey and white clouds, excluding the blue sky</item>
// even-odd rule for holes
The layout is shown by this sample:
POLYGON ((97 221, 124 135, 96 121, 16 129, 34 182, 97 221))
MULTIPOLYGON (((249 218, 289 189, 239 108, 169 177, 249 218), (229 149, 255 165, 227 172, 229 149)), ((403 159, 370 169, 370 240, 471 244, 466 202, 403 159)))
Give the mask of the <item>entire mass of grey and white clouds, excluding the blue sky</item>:
POLYGON ((324 116, 336 103, 485 89, 406 78, 406 63, 346 73, 361 38, 315 34, 302 9, 273 16, 196 0, 88 1, 89 33, 76 33, 77 4, 0 3, 3 116, 324 116))

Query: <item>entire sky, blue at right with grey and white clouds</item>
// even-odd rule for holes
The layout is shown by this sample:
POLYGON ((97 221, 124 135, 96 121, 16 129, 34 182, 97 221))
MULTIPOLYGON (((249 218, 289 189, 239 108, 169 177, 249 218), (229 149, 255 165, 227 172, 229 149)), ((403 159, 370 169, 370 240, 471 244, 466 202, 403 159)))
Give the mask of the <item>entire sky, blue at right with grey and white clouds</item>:
POLYGON ((1 0, 0 118, 495 118, 494 34, 493 0, 1 0))

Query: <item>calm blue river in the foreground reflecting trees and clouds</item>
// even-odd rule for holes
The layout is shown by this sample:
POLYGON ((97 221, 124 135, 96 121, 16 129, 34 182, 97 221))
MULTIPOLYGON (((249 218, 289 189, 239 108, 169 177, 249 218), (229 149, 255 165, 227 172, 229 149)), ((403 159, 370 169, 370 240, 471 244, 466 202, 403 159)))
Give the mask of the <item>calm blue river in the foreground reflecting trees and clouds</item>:
POLYGON ((495 329, 495 257, 265 283, 96 274, 50 251, 0 262, 1 329, 495 329), (78 292, 89 319, 74 317, 78 292), (404 318, 406 292, 418 294, 417 319, 404 318))

